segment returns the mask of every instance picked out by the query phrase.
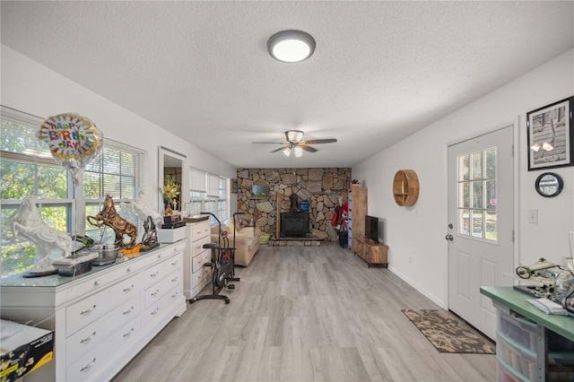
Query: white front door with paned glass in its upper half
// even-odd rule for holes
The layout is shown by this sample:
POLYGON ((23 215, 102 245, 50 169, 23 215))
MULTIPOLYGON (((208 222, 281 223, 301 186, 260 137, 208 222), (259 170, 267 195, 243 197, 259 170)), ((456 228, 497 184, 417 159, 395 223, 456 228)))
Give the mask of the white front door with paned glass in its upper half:
POLYGON ((448 308, 495 338, 496 312, 480 294, 512 285, 513 128, 448 147, 448 308))

